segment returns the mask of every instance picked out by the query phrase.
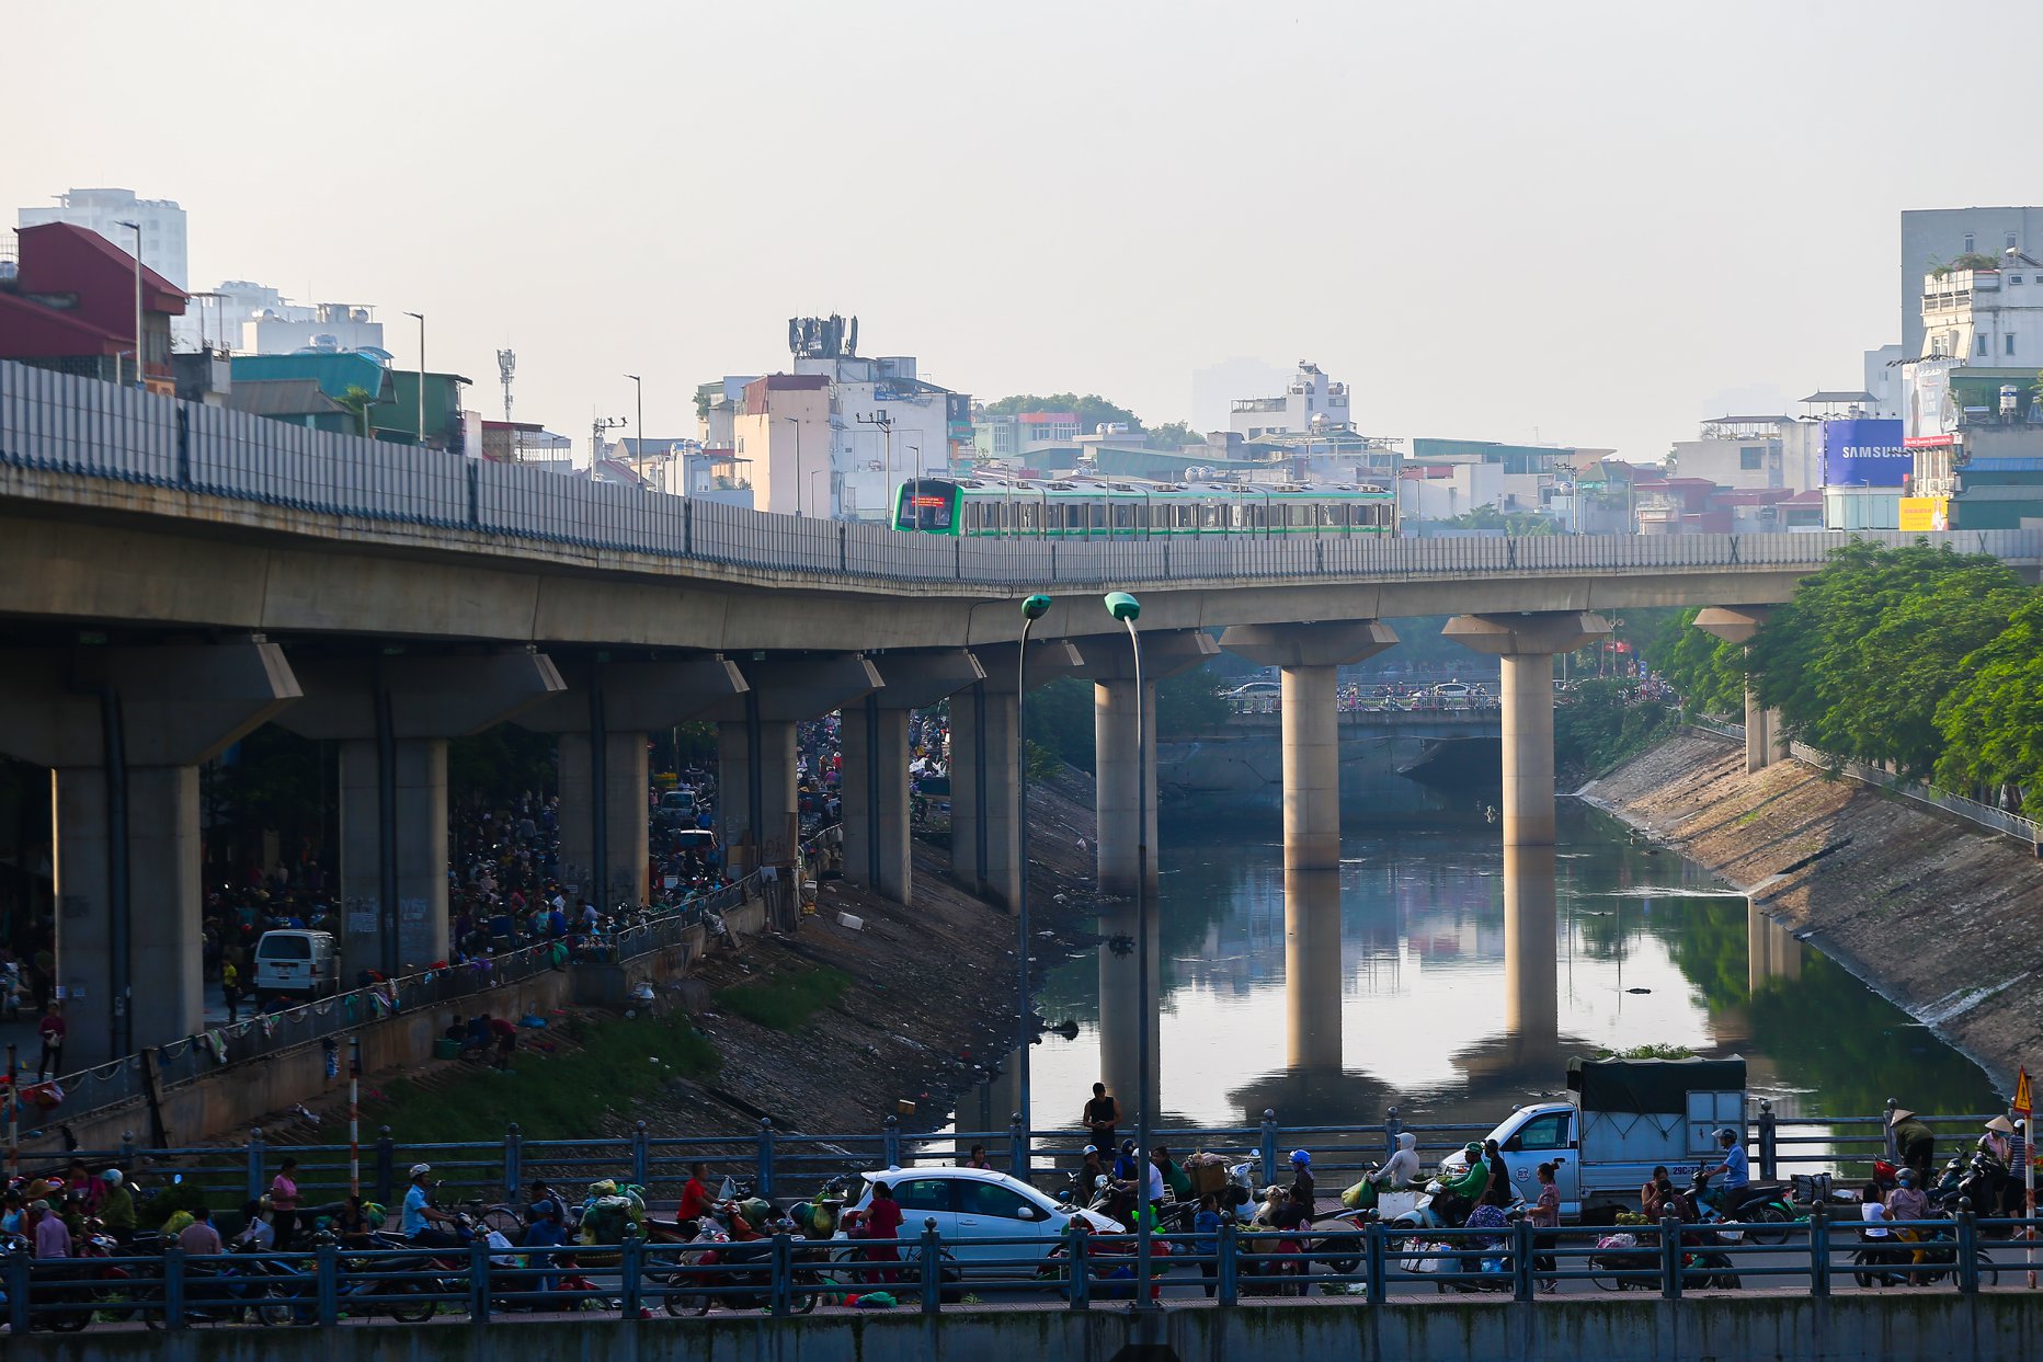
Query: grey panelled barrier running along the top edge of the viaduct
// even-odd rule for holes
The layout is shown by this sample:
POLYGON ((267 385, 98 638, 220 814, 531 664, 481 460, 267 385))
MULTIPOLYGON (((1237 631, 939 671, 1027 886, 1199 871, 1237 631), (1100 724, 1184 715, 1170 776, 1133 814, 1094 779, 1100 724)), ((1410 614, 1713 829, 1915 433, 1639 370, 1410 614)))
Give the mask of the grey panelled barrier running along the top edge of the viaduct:
POLYGON ((768 515, 515 464, 308 431, 20 363, 0 363, 0 466, 174 488, 368 525, 501 535, 578 551, 642 553, 874 582, 1007 588, 1144 582, 1618 574, 1808 568, 1853 541, 1929 539, 2043 562, 2043 531, 1528 535, 1167 535, 948 539, 878 523, 768 515))

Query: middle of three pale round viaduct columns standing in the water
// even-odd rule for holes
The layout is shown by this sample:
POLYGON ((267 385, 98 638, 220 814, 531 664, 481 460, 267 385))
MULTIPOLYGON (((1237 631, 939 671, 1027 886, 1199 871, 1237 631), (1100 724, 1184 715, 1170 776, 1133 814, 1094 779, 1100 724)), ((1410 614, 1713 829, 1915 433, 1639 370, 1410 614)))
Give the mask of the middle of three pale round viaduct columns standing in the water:
POLYGON ((1279 668, 1285 870, 1340 870, 1338 668, 1375 658, 1393 643, 1397 635, 1373 619, 1234 625, 1220 635, 1230 653, 1279 668))

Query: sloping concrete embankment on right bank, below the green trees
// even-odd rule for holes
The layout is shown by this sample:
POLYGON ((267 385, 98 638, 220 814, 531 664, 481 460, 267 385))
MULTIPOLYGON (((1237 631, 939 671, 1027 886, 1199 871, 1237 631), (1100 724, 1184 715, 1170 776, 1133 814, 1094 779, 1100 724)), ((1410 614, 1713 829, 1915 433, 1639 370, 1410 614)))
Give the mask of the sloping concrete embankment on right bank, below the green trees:
POLYGON ((1959 819, 1683 729, 1583 796, 1714 870, 1974 1056, 2043 1058, 2043 862, 1959 819))

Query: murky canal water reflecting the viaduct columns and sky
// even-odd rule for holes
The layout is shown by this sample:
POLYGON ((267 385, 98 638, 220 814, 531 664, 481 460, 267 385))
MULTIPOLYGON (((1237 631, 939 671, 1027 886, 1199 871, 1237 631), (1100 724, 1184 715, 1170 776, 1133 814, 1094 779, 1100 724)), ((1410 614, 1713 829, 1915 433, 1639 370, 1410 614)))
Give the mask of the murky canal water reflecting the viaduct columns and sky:
MULTIPOLYGON (((1391 1105, 1408 1121, 1493 1121, 1563 1092, 1569 1056, 1649 1043, 1745 1056, 1753 1095, 1788 1117, 1873 1115, 1888 1097, 1998 1105, 1969 1060, 1743 894, 1579 802, 1563 800, 1553 852, 1506 860, 1481 817, 1371 827, 1350 811, 1344 854, 1338 876, 1289 886, 1287 933, 1275 817, 1165 821, 1169 1123, 1246 1125, 1265 1109, 1285 1125, 1365 1123, 1391 1105)), ((1132 925, 1103 919, 1101 933, 1120 939, 1038 994, 1052 1023, 1077 1023, 1077 1039, 1034 1052, 1038 1127, 1075 1123, 1095 1078, 1136 1086, 1132 925)))

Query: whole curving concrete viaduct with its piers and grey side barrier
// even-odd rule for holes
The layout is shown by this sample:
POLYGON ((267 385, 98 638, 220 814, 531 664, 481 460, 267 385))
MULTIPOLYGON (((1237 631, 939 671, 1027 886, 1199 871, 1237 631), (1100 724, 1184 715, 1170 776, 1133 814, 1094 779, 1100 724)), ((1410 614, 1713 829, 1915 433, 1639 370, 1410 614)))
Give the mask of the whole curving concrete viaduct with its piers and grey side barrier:
MULTIPOLYGON (((650 731, 717 725, 719 831, 756 866, 797 835, 795 725, 842 713, 844 870, 907 903, 907 717, 948 698, 952 872, 1013 905, 1022 692, 1081 676, 1099 884, 1128 894, 1156 843, 1138 727, 1222 647, 1281 670, 1285 868, 1312 878, 1340 860, 1336 668, 1395 645, 1385 619, 1500 658, 1500 835, 1549 847, 1555 651, 1645 604, 1737 637, 1853 537, 1918 539, 936 539, 0 363, 0 753, 55 774, 65 1058, 100 1064, 200 1029, 198 768, 266 723, 339 747, 349 974, 445 958, 447 741, 498 723, 558 737, 562 858, 611 905, 648 890, 650 731), (1107 588, 1142 590, 1140 672, 1107 588)), ((2043 531, 1927 539, 2043 566, 2043 531)))

